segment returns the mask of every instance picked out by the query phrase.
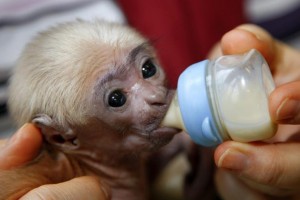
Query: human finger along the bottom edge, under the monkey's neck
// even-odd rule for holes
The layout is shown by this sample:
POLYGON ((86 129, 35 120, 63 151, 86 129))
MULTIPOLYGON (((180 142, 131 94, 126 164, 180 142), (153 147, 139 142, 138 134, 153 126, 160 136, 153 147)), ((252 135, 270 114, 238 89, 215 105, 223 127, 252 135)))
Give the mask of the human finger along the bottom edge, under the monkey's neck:
POLYGON ((25 194, 20 200, 110 200, 107 185, 93 176, 82 176, 59 184, 43 185, 25 194))

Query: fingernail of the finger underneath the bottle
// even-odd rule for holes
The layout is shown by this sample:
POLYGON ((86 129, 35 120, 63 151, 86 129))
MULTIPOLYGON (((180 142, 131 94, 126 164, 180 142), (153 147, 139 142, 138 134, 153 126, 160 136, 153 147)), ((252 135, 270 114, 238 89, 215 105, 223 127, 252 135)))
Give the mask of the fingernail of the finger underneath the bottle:
POLYGON ((245 153, 237 149, 230 148, 224 151, 224 153, 220 156, 217 165, 221 168, 240 171, 247 167, 248 157, 245 153))

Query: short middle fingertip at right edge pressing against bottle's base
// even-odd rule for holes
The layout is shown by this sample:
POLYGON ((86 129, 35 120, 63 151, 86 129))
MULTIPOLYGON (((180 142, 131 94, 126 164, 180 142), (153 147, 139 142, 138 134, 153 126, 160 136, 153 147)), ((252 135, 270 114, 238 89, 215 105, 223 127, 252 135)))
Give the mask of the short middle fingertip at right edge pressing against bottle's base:
POLYGON ((300 124, 300 81, 276 88, 269 98, 271 118, 279 124, 300 124))

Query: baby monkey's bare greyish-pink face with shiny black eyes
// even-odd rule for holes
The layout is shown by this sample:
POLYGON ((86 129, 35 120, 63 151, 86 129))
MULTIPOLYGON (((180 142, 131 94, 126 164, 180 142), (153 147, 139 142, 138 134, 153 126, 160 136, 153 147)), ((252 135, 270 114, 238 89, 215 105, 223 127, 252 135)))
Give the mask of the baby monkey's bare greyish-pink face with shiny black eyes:
POLYGON ((166 87, 153 49, 143 43, 119 48, 115 54, 113 66, 101 69, 95 81, 91 103, 95 116, 119 135, 126 148, 166 144, 178 132, 160 127, 174 91, 166 87))

